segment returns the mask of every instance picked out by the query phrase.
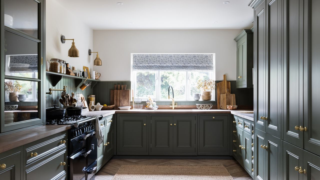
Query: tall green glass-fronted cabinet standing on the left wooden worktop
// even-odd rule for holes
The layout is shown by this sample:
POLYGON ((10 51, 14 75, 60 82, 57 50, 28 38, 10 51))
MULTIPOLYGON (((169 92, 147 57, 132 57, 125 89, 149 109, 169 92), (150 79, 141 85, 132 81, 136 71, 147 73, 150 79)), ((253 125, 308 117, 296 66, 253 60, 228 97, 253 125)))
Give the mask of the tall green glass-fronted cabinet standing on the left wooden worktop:
POLYGON ((44 119, 44 0, 1 0, 1 133, 44 119))

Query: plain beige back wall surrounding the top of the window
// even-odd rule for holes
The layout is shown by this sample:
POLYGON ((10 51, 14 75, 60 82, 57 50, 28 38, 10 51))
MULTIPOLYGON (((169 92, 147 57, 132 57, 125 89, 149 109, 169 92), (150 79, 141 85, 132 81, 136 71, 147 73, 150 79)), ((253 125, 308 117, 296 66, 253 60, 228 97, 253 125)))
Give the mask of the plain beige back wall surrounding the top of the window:
POLYGON ((131 79, 131 53, 215 53, 216 80, 236 80, 236 42, 242 29, 93 30, 101 80, 131 79))

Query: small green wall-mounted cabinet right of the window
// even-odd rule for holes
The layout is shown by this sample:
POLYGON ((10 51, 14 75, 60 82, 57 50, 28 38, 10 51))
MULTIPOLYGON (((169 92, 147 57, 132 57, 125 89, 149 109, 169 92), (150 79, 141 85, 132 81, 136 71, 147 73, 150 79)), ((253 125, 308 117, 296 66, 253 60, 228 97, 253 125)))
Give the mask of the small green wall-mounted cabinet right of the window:
POLYGON ((253 87, 253 32, 244 29, 234 40, 237 43, 236 88, 253 87))

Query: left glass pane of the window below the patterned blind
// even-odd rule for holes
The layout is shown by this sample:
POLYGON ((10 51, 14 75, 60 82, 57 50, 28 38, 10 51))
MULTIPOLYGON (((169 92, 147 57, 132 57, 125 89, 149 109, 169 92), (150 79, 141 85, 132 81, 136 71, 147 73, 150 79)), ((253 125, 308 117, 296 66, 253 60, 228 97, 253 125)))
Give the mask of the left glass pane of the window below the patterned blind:
POLYGON ((147 98, 151 96, 156 97, 156 72, 137 71, 137 92, 136 97, 147 98))

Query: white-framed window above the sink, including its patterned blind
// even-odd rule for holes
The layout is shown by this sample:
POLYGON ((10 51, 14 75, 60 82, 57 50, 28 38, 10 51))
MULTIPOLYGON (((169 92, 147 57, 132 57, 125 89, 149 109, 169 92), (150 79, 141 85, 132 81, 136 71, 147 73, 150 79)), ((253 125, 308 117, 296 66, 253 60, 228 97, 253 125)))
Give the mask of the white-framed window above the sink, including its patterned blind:
MULTIPOLYGON (((149 54, 138 54, 137 58, 140 62, 134 62, 132 59, 132 88, 134 90, 134 97, 142 98, 146 100, 148 96, 151 96, 156 101, 169 101, 168 100, 168 88, 169 85, 173 87, 174 90, 174 99, 178 101, 192 101, 192 95, 194 93, 201 93, 201 90, 196 88, 197 81, 199 79, 208 80, 214 79, 214 69, 212 68, 201 68, 198 66, 187 65, 188 67, 182 67, 181 65, 174 70, 171 70, 172 66, 170 65, 172 61, 171 54, 161 54, 167 55, 168 61, 163 59, 163 56, 158 56, 155 58, 154 55, 148 56, 149 54), (140 58, 140 59, 139 59, 140 58), (149 67, 147 63, 150 63, 150 58, 152 59, 151 63, 157 63, 158 65, 151 64, 149 67), (145 61, 144 59, 148 59, 145 61), (160 60, 159 60, 160 59, 160 60), (162 61, 162 62, 161 62, 162 61), (159 63, 161 62, 161 63, 159 63), (161 64, 161 65, 159 65, 161 64), (161 66, 161 67, 159 67, 161 66), (180 69, 180 70, 179 70, 180 69), (181 70, 183 69, 183 70, 181 70), (204 69, 204 70, 202 70, 204 69), (209 69, 209 70, 206 70, 209 69)), ((181 55, 181 54, 174 54, 181 55)), ((189 55, 189 54, 182 54, 189 55)), ((201 54, 202 55, 202 54, 201 54)), ((214 54, 212 55, 211 61, 212 66, 214 65, 214 54)), ((174 57, 173 57, 174 58, 174 57)), ((181 57, 179 57, 181 58, 181 57)), ((188 61, 188 60, 187 60, 188 61)), ((192 63, 194 63, 193 61, 192 63)), ((199 62, 199 61, 198 61, 199 62)), ((185 61, 183 62, 185 63, 185 61)), ((203 64, 201 64, 204 66, 203 64)), ((211 65, 210 65, 211 66, 211 65)))

